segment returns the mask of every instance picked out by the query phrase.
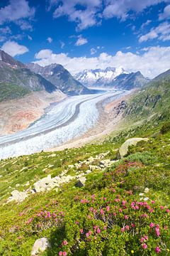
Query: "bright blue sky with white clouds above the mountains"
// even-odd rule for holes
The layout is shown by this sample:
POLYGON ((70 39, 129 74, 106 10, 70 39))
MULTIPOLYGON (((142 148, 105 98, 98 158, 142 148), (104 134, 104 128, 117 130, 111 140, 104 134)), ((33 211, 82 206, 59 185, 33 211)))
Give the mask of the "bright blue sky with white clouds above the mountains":
POLYGON ((0 48, 72 74, 122 66, 153 78, 170 68, 170 0, 1 0, 0 48))

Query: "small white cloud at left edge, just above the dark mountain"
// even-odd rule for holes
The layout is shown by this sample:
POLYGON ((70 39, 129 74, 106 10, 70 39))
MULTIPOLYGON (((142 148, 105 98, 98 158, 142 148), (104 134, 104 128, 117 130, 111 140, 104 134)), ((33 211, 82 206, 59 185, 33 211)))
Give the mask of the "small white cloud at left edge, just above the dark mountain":
POLYGON ((7 41, 1 47, 1 50, 4 50, 6 53, 11 55, 12 57, 28 52, 28 48, 26 46, 21 46, 15 41, 7 41))

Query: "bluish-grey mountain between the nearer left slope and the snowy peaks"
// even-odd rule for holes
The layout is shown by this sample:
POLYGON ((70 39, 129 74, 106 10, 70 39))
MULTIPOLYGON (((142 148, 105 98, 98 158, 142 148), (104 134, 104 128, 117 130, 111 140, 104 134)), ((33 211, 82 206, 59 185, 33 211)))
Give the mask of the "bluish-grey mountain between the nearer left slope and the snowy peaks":
POLYGON ((39 74, 43 78, 52 82, 57 89, 62 90, 62 92, 67 93, 68 95, 79 95, 89 93, 89 90, 81 85, 80 82, 75 80, 72 75, 59 64, 51 64, 45 67, 41 67, 38 64, 28 63, 27 67, 39 74))

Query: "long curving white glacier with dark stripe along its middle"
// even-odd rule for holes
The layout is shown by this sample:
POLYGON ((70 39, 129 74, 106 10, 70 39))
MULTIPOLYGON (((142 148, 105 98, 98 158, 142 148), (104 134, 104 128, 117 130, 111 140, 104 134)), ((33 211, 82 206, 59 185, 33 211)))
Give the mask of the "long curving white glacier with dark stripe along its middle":
POLYGON ((80 137, 95 126, 100 115, 97 103, 109 98, 115 100, 123 94, 122 90, 108 90, 96 95, 67 97, 53 104, 27 129, 0 137, 0 158, 33 154, 80 137))

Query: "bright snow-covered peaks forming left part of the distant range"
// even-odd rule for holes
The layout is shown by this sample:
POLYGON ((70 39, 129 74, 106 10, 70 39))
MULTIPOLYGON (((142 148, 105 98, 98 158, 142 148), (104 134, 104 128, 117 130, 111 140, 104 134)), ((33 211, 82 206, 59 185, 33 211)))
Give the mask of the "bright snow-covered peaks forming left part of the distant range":
POLYGON ((120 74, 128 74, 122 67, 111 68, 108 67, 105 70, 100 68, 95 70, 84 70, 80 73, 77 73, 74 78, 79 80, 84 85, 87 86, 98 86, 98 85, 107 85, 114 80, 120 74))

